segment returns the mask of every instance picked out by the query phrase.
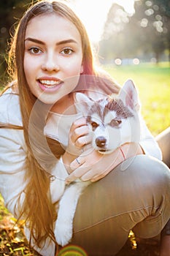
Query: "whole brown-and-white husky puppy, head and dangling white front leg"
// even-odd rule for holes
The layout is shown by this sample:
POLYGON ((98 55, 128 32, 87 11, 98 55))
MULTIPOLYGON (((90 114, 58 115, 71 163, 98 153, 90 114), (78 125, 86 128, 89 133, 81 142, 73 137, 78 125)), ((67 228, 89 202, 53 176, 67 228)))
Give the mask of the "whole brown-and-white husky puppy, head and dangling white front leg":
MULTIPOLYGON (((86 116, 92 134, 92 147, 101 154, 109 154, 124 143, 139 142, 139 99, 134 83, 125 82, 117 97, 96 102, 77 93, 77 108, 86 116)), ((76 181, 66 187, 59 202, 55 238, 64 246, 72 238, 72 225, 78 199, 89 181, 76 181)))

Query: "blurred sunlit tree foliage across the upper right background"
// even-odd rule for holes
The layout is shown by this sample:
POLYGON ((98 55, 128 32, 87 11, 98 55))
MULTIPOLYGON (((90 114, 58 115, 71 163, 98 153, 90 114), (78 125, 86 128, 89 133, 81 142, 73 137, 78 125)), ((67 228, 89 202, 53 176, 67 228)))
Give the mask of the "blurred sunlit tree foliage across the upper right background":
POLYGON ((170 53, 170 3, 168 0, 139 0, 129 15, 112 4, 107 15, 99 54, 105 62, 118 58, 151 55, 159 61, 170 53))

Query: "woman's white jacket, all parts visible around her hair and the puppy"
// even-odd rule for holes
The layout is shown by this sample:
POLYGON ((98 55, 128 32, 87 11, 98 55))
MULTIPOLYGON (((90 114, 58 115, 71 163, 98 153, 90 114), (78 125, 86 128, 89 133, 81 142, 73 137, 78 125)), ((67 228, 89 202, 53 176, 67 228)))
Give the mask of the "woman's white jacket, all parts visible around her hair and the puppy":
MULTIPOLYGON (((47 120, 45 133, 50 138, 58 139, 64 146, 67 145, 69 129, 72 122, 80 116, 77 113, 72 116, 61 116, 57 113, 50 113, 47 120), (58 125, 56 126, 56 123, 58 125), (61 125, 60 125, 61 124, 61 125), (58 129, 56 129, 58 127, 58 129)), ((19 97, 7 91, 0 97, 0 124, 16 124, 22 126, 22 118, 20 114, 19 97)), ((161 151, 158 144, 147 129, 144 121, 141 127, 140 144, 145 154, 161 159, 161 151)), ((20 204, 24 200, 24 188, 26 181, 24 176, 26 173, 26 156, 27 148, 21 129, 0 129, 0 192, 4 197, 5 206, 17 218, 19 209, 17 205, 18 195, 20 196, 20 204)), ((50 183, 50 192, 53 203, 58 201, 64 191, 64 180, 68 176, 66 168, 61 160, 56 159, 56 165, 51 170, 55 180, 50 183)), ((29 238, 29 230, 26 229, 26 236, 29 238)), ((42 249, 34 246, 37 252, 44 256, 54 256, 55 244, 47 240, 42 249)))

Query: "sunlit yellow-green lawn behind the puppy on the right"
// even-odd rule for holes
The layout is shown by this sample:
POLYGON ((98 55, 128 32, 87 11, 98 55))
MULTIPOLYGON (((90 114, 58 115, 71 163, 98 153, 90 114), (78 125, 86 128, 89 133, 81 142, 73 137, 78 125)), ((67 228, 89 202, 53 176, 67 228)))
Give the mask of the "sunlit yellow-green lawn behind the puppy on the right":
POLYGON ((142 104, 142 116, 152 135, 170 126, 170 65, 169 63, 129 66, 104 66, 123 85, 134 80, 142 104))

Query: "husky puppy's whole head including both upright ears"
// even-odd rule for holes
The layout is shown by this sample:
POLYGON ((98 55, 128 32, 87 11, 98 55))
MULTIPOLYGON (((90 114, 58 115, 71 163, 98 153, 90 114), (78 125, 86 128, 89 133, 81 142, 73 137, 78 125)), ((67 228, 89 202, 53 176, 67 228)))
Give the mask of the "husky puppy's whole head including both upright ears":
POLYGON ((102 154, 109 154, 124 143, 139 142, 139 101, 136 88, 128 80, 120 94, 97 102, 77 94, 77 102, 86 116, 92 135, 92 146, 102 154))

